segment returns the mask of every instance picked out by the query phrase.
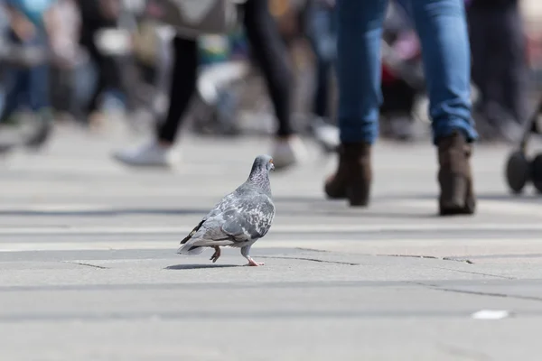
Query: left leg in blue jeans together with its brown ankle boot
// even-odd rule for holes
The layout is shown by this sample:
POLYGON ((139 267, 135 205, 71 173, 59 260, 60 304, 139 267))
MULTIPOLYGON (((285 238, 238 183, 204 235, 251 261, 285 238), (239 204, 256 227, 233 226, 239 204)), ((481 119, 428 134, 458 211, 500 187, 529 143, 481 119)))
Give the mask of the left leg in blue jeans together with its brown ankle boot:
POLYGON ((325 184, 330 198, 366 206, 372 178, 370 148, 378 137, 380 42, 387 0, 337 2, 339 167, 325 184))

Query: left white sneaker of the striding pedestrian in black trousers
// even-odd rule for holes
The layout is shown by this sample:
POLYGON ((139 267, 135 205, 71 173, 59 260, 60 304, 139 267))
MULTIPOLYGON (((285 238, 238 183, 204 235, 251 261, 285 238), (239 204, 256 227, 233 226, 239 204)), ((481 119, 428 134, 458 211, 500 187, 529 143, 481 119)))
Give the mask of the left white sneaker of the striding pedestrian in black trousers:
POLYGON ((164 147, 159 143, 147 143, 133 150, 113 153, 118 162, 139 167, 172 167, 179 161, 179 154, 171 147, 164 147))

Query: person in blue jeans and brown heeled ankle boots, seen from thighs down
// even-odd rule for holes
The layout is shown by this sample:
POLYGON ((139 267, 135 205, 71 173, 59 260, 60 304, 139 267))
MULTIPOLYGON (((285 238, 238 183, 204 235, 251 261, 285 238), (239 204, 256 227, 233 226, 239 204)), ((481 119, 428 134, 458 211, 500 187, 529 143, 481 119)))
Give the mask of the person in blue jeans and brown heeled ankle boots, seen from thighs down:
MULTIPOLYGON (((387 0, 338 0, 341 152, 326 181, 331 198, 367 206, 371 152, 378 137, 380 42, 387 0)), ((470 50, 463 0, 410 0, 423 49, 433 143, 438 151, 441 215, 472 214, 470 156, 477 139, 471 116, 470 50)))

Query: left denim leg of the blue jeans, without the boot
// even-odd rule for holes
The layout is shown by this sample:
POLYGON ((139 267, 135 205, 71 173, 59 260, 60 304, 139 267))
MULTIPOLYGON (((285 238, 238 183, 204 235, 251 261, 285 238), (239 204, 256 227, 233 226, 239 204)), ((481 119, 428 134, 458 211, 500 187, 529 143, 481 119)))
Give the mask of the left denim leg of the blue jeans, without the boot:
POLYGON ((337 2, 337 80, 342 143, 378 137, 380 41, 387 0, 337 2))

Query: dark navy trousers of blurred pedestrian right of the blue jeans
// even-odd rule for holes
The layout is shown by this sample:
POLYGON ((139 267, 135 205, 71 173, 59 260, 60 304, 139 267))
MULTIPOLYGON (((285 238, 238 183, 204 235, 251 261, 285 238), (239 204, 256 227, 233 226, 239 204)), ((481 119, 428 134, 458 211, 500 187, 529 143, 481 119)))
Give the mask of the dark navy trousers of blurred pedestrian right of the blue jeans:
POLYGON ((523 122, 528 116, 527 61, 518 6, 471 8, 468 19, 472 79, 481 91, 482 112, 497 106, 523 122))

